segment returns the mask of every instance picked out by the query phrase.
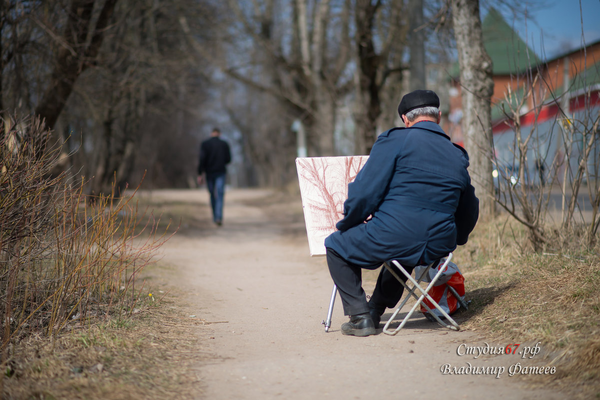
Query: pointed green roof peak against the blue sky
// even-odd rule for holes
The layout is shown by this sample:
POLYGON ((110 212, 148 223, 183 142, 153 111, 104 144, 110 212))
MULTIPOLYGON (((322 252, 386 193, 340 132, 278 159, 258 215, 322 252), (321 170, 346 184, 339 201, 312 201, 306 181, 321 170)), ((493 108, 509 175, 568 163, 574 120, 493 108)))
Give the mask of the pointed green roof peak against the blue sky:
POLYGON ((481 24, 485 51, 493 62, 494 75, 521 73, 538 65, 538 56, 521 40, 496 8, 490 8, 481 24))

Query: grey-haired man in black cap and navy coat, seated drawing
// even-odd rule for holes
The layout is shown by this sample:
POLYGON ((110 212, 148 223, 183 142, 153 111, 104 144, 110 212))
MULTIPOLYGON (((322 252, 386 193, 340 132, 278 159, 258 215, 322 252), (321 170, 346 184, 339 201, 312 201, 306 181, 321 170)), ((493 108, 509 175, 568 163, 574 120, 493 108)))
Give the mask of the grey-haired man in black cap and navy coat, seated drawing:
POLYGON ((439 105, 433 91, 402 98, 398 113, 406 128, 377 138, 348 187, 338 230, 325 239, 329 272, 350 316, 341 326, 344 335, 374 335, 385 309, 402 297, 400 282, 382 268, 367 303, 361 268, 398 260, 410 273, 466 243, 475 227, 479 200, 467 172, 469 157, 438 125, 439 105))

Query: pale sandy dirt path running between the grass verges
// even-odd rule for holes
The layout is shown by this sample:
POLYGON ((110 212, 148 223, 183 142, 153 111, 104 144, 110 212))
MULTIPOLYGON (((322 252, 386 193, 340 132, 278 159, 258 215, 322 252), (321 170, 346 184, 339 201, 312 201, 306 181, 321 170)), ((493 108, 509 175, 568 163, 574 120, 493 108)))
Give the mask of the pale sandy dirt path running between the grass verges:
MULTIPOLYGON (((230 190, 224 225, 217 228, 209 223, 205 191, 154 192, 152 198, 197 207, 163 252, 173 266, 168 284, 188 294, 195 315, 220 322, 199 328, 203 399, 566 398, 509 377, 508 367, 523 363, 518 354, 458 356, 460 344, 484 344, 471 332, 451 332, 422 317, 396 336, 343 336, 347 317, 338 297, 326 333, 320 321, 332 282, 325 260, 308 256, 299 200, 230 190), (467 362, 506 369, 500 378, 440 371, 467 362)), ((365 284, 367 293, 372 285, 365 284)))

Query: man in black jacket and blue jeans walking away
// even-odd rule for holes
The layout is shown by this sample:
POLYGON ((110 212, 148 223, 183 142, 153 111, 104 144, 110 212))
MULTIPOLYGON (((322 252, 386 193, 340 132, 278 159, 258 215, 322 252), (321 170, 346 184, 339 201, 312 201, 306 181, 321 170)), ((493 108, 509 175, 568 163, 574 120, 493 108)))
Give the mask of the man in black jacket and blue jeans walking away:
POLYGON ((220 136, 221 131, 214 128, 211 138, 202 142, 198 164, 198 184, 202 185, 206 179, 211 194, 212 220, 219 226, 223 224, 226 165, 231 161, 229 145, 220 136))

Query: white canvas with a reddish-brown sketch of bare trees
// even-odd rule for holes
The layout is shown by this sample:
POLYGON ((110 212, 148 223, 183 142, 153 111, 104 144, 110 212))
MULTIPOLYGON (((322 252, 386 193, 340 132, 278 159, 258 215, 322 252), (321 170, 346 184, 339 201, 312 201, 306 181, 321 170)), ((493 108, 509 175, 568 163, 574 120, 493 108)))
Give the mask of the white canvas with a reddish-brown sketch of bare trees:
POLYGON ((348 184, 368 156, 296 158, 310 255, 325 255, 325 238, 343 217, 348 184))

